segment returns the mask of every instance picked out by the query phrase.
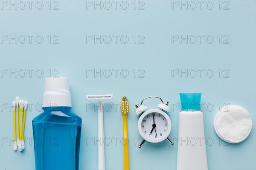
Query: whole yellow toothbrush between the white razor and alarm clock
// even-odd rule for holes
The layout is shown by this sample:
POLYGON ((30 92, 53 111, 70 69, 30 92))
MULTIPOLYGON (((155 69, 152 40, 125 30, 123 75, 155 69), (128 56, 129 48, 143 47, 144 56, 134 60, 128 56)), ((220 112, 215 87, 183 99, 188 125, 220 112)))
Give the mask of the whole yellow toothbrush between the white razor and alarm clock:
POLYGON ((129 112, 129 103, 125 95, 122 96, 120 109, 123 115, 123 130, 124 130, 124 170, 129 170, 128 133, 127 133, 127 115, 129 112))

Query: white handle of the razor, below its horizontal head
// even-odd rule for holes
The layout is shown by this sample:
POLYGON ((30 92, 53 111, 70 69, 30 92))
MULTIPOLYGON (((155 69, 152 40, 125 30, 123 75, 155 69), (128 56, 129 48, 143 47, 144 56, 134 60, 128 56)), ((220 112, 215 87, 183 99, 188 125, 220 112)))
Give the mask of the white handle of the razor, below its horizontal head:
POLYGON ((102 101, 98 102, 98 170, 105 170, 105 153, 104 153, 104 129, 103 129, 103 110, 102 101))

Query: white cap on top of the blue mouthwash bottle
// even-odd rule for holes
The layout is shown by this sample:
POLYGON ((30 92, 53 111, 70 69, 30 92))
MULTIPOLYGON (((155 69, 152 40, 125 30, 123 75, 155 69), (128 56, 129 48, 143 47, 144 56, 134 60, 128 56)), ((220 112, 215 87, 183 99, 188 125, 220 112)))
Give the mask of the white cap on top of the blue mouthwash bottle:
POLYGON ((68 78, 50 77, 45 79, 43 107, 51 106, 71 107, 68 78))

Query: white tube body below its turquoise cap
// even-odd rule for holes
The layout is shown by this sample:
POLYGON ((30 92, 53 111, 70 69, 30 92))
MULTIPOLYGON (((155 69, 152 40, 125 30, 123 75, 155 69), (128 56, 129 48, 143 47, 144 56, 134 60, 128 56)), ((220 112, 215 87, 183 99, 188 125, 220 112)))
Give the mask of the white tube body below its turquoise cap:
POLYGON ((201 111, 181 111, 177 170, 207 170, 204 121, 201 111))

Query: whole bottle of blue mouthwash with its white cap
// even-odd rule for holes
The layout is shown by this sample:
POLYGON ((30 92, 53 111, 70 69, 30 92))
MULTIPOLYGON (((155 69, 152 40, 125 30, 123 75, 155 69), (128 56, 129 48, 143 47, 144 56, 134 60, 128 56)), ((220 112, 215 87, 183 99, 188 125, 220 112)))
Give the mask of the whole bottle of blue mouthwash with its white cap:
POLYGON ((78 170, 82 120, 72 113, 68 79, 47 78, 43 110, 32 121, 36 170, 78 170))

